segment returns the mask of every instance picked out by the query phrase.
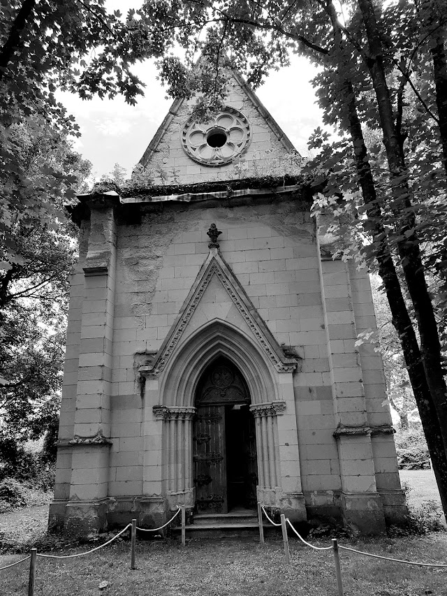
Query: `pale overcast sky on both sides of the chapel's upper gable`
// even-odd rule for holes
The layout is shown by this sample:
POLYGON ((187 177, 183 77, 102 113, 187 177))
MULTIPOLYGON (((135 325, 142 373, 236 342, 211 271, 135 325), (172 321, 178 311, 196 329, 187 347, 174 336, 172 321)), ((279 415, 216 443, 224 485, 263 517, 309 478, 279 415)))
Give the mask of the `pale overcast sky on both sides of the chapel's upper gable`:
MULTIPOLYGON (((108 0, 109 3, 110 9, 117 8, 113 0, 108 0)), ((123 4, 127 2, 119 4, 125 10, 123 4)), ((147 61, 133 71, 146 84, 145 97, 136 106, 127 105, 121 97, 82 101, 69 93, 59 94, 60 101, 80 125, 82 136, 75 142, 75 149, 91 161, 96 177, 110 172, 115 163, 126 168, 130 175, 172 103, 156 80, 154 64, 147 61)), ((309 83, 314 73, 304 58, 293 57, 291 67, 271 73, 256 90, 265 108, 303 155, 307 154, 310 133, 321 126, 321 112, 309 83)))

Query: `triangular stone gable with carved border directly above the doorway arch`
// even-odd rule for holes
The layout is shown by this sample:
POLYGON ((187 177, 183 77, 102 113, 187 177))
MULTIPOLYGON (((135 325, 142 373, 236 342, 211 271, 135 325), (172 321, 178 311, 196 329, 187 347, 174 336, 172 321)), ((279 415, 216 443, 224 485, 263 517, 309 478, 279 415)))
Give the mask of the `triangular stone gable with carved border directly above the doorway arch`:
POLYGON ((238 328, 244 328, 245 333, 251 335, 251 339, 278 372, 291 372, 296 368, 298 361, 284 354, 234 273, 214 249, 200 268, 196 281, 154 361, 140 370, 159 375, 166 368, 176 348, 195 330, 195 320, 198 319, 199 311, 207 317, 207 321, 225 321, 228 317, 233 319, 233 324, 238 328), (219 293, 220 298, 214 302, 206 300, 210 293, 214 296, 219 293))

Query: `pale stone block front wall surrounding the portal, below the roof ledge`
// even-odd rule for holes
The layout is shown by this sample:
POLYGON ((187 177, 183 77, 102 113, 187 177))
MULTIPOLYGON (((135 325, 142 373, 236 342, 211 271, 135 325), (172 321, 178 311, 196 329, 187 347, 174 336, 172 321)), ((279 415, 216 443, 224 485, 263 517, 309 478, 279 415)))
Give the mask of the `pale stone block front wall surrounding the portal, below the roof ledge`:
MULTIPOLYGON (((290 431, 281 447, 284 482, 290 477, 292 486, 300 470, 309 515, 349 511, 345 521, 360 523, 367 511, 365 528, 371 516, 379 527, 383 513, 393 520, 402 517, 380 356, 368 345, 355 345, 357 333, 375 326, 369 279, 342 261, 322 260, 307 204, 277 197, 256 207, 165 203, 142 208, 140 224, 118 220, 112 307, 108 276, 84 276, 91 231, 82 225, 85 240, 73 274, 69 315, 54 525, 60 525, 67 500, 73 507, 74 497, 108 507, 109 521, 115 523, 130 515, 135 499, 141 516, 149 501, 151 511, 155 507, 161 515, 163 479, 148 483, 151 470, 162 465, 161 437, 154 435, 161 427, 145 419, 138 370, 161 347, 182 309, 210 252, 212 223, 222 232, 221 257, 259 316, 278 344, 292 347, 300 358, 300 370, 293 375, 296 423, 291 425, 298 428, 298 437, 290 431), (89 342, 97 340, 109 342, 110 364, 95 362, 89 342), (101 397, 104 392, 108 401, 101 397), (107 416, 98 414, 106 402, 107 416), (107 439, 101 448, 70 444, 77 435, 87 436, 85 428, 87 435, 107 439), (296 444, 299 460, 292 448, 296 444), (96 493, 82 492, 82 486, 95 483, 96 493), (151 486, 151 494, 145 486, 151 486)), ((232 305, 228 296, 217 293, 198 306, 200 320, 228 319, 232 305)))

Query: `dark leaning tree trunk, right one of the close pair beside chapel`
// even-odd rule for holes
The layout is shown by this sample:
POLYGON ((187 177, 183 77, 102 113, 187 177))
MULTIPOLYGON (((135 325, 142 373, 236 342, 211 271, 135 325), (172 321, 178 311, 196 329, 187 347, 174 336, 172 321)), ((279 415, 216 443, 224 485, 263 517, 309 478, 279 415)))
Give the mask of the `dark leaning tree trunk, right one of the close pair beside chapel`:
POLYGON ((399 221, 399 232, 404 240, 397 242, 397 248, 406 286, 418 321, 420 354, 425 370, 425 378, 439 418, 444 450, 447 451, 447 386, 441 366, 441 344, 432 301, 425 282, 419 242, 414 231, 416 217, 411 207, 409 187, 405 180, 404 154, 400 148, 395 130, 393 106, 391 105, 383 66, 380 32, 372 1, 358 0, 358 5, 360 6, 368 39, 369 56, 366 61, 376 92, 381 129, 383 131, 383 143, 386 148, 388 167, 393 177, 393 196, 397 204, 402 205, 401 209, 404 211, 404 216, 400 217, 399 221), (405 232, 411 232, 410 240, 404 237, 405 232))

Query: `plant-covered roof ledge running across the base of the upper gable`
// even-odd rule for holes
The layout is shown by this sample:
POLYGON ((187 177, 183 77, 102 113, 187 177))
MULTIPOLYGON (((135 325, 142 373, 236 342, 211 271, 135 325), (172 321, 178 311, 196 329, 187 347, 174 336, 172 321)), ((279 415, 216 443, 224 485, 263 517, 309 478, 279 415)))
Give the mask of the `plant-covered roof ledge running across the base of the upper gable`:
POLYGON ((199 194, 219 191, 235 191, 241 189, 277 188, 298 185, 307 186, 311 180, 302 175, 258 176, 240 178, 237 180, 214 180, 213 182, 195 182, 193 184, 159 184, 143 185, 129 181, 123 187, 115 182, 97 182, 91 190, 90 196, 98 196, 106 192, 115 191, 122 198, 137 196, 169 196, 176 194, 199 194))

